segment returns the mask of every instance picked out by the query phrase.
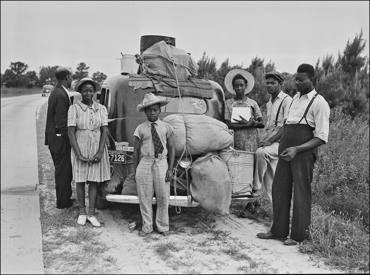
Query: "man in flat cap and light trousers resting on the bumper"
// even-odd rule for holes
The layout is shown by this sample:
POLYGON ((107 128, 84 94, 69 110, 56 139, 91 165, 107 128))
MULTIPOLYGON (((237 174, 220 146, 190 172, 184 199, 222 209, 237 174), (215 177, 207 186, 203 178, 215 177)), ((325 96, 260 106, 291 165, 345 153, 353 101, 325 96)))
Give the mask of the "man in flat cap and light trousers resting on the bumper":
MULTIPOLYGON (((277 71, 265 74, 267 92, 271 95, 266 104, 266 126, 262 130, 264 133, 260 136, 259 148, 255 154, 255 174, 253 186, 261 186, 262 181, 265 184, 266 194, 272 209, 272 181, 274 179, 279 149, 279 138, 274 135, 283 126, 284 119, 289 112, 289 106, 292 98, 285 94, 281 87, 284 82, 284 75, 277 71)), ((273 218, 273 212, 270 214, 273 218)))

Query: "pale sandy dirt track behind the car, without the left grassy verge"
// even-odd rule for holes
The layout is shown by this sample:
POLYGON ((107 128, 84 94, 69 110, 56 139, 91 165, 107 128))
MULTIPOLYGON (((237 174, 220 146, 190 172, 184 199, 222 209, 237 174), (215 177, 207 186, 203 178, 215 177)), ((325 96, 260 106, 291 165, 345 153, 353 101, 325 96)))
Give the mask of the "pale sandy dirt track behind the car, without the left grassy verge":
POLYGON ((105 253, 117 258, 117 273, 340 273, 300 253, 298 246, 257 238, 256 233, 268 228, 248 218, 236 214, 221 217, 205 213, 201 208, 182 208, 180 214, 174 210, 174 207, 170 209, 173 231, 169 237, 155 231, 140 237, 138 230, 130 230, 130 220, 122 218, 121 209, 98 210, 103 225, 95 230, 101 231, 100 240, 111 247, 105 253))

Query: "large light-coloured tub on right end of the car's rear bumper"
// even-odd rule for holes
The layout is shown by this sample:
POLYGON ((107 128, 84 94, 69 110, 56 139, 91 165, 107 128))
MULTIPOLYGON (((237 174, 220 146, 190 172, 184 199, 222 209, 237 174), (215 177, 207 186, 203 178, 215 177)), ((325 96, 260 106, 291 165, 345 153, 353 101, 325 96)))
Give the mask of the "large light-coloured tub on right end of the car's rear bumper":
POLYGON ((231 179, 231 194, 250 195, 253 187, 254 155, 241 150, 219 150, 219 157, 226 163, 231 179))

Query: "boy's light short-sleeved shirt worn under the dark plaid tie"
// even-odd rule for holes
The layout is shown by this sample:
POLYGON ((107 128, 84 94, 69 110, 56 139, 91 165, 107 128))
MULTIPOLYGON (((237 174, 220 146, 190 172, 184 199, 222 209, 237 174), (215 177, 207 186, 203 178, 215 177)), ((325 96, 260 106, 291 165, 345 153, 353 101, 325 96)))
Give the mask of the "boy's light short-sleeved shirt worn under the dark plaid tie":
MULTIPOLYGON (((174 132, 174 128, 168 123, 163 122, 159 119, 157 119, 157 121, 153 123, 164 148, 162 153, 158 153, 158 157, 165 157, 167 156, 167 138, 169 138, 172 132, 174 132)), ((134 136, 137 136, 141 140, 141 155, 154 158, 155 156, 154 142, 152 139, 152 122, 147 119, 147 121, 137 126, 134 136)))

